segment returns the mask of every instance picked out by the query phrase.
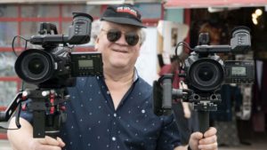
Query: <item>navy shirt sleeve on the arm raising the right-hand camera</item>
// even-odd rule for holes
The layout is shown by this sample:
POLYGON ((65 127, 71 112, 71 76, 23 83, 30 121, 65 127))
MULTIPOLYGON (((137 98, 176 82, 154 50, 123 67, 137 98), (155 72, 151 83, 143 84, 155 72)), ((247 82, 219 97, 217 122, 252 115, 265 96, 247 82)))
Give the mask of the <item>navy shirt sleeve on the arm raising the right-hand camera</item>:
POLYGON ((162 116, 164 123, 158 138, 157 150, 173 150, 181 145, 179 130, 174 120, 174 114, 162 116))

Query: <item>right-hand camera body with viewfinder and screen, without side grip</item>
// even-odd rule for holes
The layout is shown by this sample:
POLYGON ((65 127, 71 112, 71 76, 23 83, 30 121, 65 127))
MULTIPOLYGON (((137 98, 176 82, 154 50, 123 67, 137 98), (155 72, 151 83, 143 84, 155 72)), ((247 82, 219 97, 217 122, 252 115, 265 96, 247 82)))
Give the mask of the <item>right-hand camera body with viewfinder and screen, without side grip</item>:
MULTIPOLYGON (((223 83, 250 84, 255 78, 253 60, 223 60, 217 53, 245 53, 250 49, 249 29, 235 28, 231 45, 208 45, 208 35, 200 34, 199 43, 184 61, 185 83, 194 91, 189 101, 221 101, 218 94, 223 83)), ((211 106, 211 109, 213 106, 211 106)))

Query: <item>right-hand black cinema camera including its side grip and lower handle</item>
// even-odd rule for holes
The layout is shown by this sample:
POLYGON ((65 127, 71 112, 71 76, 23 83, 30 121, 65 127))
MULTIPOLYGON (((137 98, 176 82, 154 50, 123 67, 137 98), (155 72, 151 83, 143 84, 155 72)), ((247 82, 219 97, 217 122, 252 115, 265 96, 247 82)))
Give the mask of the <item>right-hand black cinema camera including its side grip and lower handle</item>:
MULTIPOLYGON (((221 59, 216 53, 246 53, 251 47, 249 28, 238 27, 232 31, 230 45, 208 45, 209 36, 206 33, 199 35, 199 45, 190 49, 187 43, 178 43, 187 46, 190 56, 183 64, 184 83, 188 89, 173 89, 173 75, 163 75, 153 84, 154 113, 158 115, 171 114, 173 99, 183 99, 194 104, 194 109, 203 113, 199 122, 208 125, 208 112, 217 109, 220 102, 220 88, 223 83, 253 83, 255 78, 255 64, 253 60, 237 61, 221 59), (207 112, 207 113, 206 113, 207 112)), ((177 47, 176 50, 177 51, 177 47)), ((205 131, 206 126, 200 130, 205 131)))

